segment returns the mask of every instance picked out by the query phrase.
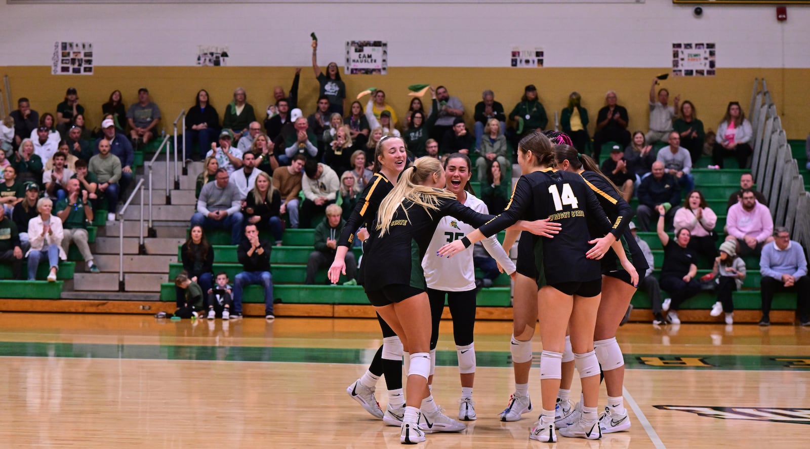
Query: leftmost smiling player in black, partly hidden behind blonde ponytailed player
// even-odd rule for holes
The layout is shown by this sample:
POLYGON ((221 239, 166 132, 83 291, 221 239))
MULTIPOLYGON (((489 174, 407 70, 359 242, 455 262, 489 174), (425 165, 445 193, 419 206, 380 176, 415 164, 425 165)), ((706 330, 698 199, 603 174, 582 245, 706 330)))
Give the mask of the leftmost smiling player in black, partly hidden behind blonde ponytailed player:
MULTIPOLYGON (((346 274, 346 253, 352 247, 356 230, 362 226, 371 229, 370 226, 377 216, 377 208, 388 192, 394 189, 406 163, 407 148, 403 139, 386 136, 377 142, 377 148, 374 150, 374 175, 363 191, 363 200, 357 203, 352 215, 346 220, 335 252, 335 260, 329 268, 329 279, 333 283, 339 280, 341 273, 346 274)), ((360 280, 362 276, 361 269, 358 273, 360 280)), ((346 391, 373 417, 382 418, 386 424, 399 426, 402 424, 405 411, 402 387, 403 344, 380 315, 377 315, 377 321, 382 328, 382 346, 374 354, 369 369, 349 385, 346 391), (385 412, 374 397, 377 380, 383 373, 386 374, 388 389, 388 405, 385 412)))

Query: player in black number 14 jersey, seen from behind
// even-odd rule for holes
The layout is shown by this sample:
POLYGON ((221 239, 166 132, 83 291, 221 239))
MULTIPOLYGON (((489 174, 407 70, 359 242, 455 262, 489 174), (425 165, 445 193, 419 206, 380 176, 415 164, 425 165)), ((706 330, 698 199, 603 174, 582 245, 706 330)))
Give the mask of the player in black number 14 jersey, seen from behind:
POLYGON ((553 162, 552 145, 546 136, 533 133, 522 139, 518 145, 518 163, 521 167, 539 166, 541 169, 529 169, 527 171, 531 173, 520 177, 509 205, 495 220, 439 250, 443 256, 455 254, 471 243, 505 229, 521 217, 550 217, 561 222, 560 233, 554 238, 539 239, 534 246, 535 263, 542 262, 536 263, 536 280, 540 288, 538 309, 544 311, 539 315, 544 344, 540 357, 543 413, 532 428, 530 438, 549 443, 556 441, 554 408, 569 321, 571 344, 585 398, 579 420, 561 429, 560 433, 566 437, 601 438, 596 414, 599 362, 593 351, 596 310, 601 296, 597 259, 612 245, 620 254, 622 266, 628 272, 635 272, 620 242, 616 242, 615 229, 599 207, 593 191, 582 177, 551 169, 553 162), (607 235, 588 242, 589 221, 607 235), (596 243, 596 246, 589 249, 591 243, 596 243))

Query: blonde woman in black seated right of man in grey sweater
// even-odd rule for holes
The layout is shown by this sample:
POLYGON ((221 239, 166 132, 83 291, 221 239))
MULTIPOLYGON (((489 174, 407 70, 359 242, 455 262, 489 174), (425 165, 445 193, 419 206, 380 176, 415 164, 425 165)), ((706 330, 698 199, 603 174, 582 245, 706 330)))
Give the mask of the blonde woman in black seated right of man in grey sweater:
POLYGON ((271 233, 274 244, 281 245, 284 224, 281 219, 281 193, 273 187, 270 175, 258 172, 254 188, 245 199, 244 216, 246 224, 255 224, 259 232, 271 233))

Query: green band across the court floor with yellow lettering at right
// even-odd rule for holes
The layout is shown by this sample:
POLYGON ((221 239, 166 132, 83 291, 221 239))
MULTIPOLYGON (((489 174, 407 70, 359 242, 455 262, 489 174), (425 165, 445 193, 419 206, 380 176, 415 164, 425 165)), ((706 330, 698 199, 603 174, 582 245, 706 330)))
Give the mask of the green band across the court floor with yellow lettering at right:
MULTIPOLYGON (((267 361, 366 364, 375 349, 182 346, 152 344, 71 344, 0 342, 0 357, 68 357, 135 360, 267 361)), ((456 366, 454 351, 437 351, 437 366, 456 366)), ((539 366, 539 353, 535 365, 539 366)), ((505 368, 505 351, 477 351, 476 366, 505 368)), ((641 370, 810 370, 810 356, 625 354, 625 366, 641 370)))

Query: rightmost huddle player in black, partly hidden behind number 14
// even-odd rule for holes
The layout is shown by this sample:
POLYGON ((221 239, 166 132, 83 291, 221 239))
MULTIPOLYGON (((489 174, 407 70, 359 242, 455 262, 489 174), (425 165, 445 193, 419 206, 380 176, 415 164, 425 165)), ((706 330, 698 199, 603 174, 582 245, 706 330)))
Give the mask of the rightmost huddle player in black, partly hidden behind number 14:
MULTIPOLYGON (((599 204, 608 214, 608 218, 620 232, 625 253, 628 254, 636 272, 646 272, 647 263, 644 253, 629 230, 633 211, 622 198, 616 185, 599 171, 599 167, 593 159, 580 154, 575 148, 569 145, 556 145, 554 152, 557 168, 582 175, 590 189, 595 192, 596 198, 599 199, 599 204)), ((616 330, 625 316, 630 299, 636 293, 637 284, 620 266, 616 254, 612 251, 605 254, 600 263, 602 267, 602 301, 599 303, 599 311, 596 314, 594 346, 599 366, 602 367, 605 387, 608 390, 608 407, 605 407, 605 413, 599 417, 599 427, 603 434, 610 434, 630 428, 630 419, 622 398, 625 359, 619 344, 616 343, 616 330)), ((565 372, 565 370, 563 371, 565 372)), ((561 419, 557 421, 558 428, 575 421, 576 417, 573 416, 573 413, 578 410, 578 407, 574 406, 567 397, 570 392, 573 370, 569 370, 569 372, 571 375, 562 379, 560 394, 557 396, 558 413, 562 415, 561 419)))

